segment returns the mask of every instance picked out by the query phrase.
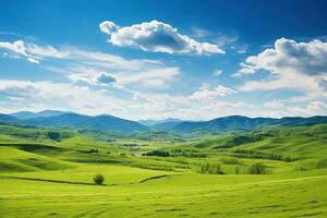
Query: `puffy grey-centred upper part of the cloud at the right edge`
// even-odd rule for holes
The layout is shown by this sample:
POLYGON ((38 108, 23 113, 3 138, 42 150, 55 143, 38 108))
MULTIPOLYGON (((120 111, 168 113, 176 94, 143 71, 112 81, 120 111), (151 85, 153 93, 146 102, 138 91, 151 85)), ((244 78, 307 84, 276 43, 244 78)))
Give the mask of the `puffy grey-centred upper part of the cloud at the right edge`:
POLYGON ((242 64, 241 74, 266 70, 274 74, 296 71, 306 75, 327 73, 327 43, 312 40, 296 43, 287 38, 277 39, 275 48, 251 56, 242 64))

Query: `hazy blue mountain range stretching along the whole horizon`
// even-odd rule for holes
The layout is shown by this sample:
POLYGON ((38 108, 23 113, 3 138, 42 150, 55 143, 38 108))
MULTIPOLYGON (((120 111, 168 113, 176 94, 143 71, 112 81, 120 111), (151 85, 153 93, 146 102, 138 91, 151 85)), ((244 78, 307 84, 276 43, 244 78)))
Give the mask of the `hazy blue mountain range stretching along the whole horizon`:
POLYGON ((311 118, 287 117, 276 118, 247 118, 229 116, 210 121, 182 121, 179 119, 142 120, 138 122, 117 118, 109 114, 85 116, 59 110, 45 110, 40 112, 22 111, 12 114, 1 114, 0 122, 22 123, 29 125, 70 126, 96 131, 113 131, 121 133, 135 133, 145 131, 167 131, 175 133, 252 131, 269 125, 314 125, 327 123, 326 116, 311 118))

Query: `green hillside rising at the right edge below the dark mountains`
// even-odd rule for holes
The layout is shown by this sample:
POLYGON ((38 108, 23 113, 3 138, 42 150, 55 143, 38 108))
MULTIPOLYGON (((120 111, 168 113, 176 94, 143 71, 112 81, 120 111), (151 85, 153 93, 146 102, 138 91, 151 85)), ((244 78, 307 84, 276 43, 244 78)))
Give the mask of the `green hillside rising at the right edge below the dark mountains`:
MULTIPOLYGON (((327 124, 299 128, 269 128, 242 135, 222 135, 199 143, 195 148, 253 150, 291 158, 323 158, 327 155, 327 124)), ((251 153, 249 153, 251 154, 251 153)))

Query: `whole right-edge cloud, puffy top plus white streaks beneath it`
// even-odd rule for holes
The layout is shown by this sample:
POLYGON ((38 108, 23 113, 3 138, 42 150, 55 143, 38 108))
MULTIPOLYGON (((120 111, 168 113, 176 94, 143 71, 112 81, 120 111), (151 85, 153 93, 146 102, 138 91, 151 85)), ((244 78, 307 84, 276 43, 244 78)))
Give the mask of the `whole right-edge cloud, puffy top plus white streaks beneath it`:
POLYGON ((296 43, 280 38, 276 40, 274 48, 249 57, 241 66, 237 73, 239 76, 262 70, 269 72, 270 76, 262 81, 247 81, 239 88, 240 90, 301 92, 302 96, 291 99, 294 101, 327 98, 327 43, 320 40, 296 43))

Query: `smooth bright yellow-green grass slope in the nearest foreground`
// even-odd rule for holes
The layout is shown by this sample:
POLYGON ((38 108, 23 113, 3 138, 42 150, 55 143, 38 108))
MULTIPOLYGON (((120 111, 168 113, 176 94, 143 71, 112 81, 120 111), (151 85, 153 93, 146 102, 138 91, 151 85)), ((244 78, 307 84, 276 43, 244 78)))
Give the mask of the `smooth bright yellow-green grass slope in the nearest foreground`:
POLYGON ((295 178, 171 175, 94 186, 0 179, 5 217, 325 217, 326 171, 295 178))

